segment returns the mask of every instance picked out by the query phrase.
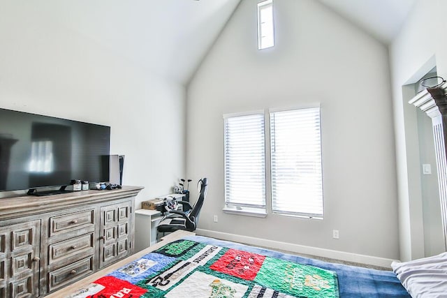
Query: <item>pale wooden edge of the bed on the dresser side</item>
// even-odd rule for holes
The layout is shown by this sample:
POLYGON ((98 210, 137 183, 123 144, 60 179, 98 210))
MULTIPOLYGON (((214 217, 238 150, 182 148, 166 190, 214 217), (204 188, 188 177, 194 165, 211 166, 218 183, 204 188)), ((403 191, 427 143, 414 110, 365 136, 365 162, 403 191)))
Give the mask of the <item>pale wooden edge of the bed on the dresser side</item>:
POLYGON ((61 290, 52 292, 52 293, 46 295, 45 297, 47 297, 47 298, 68 297, 68 296, 74 294, 77 290, 80 290, 81 288, 85 288, 90 283, 93 283, 94 281, 96 281, 96 279, 101 278, 102 276, 105 276, 120 267, 123 267, 124 265, 128 264, 129 262, 138 260, 139 258, 141 258, 143 255, 146 255, 147 253, 156 251, 157 249, 161 248, 161 246, 164 246, 170 242, 181 239, 183 237, 193 236, 195 234, 196 233, 194 233, 194 232, 177 230, 176 232, 173 232, 171 234, 166 235, 165 237, 162 237, 161 241, 159 241, 157 244, 149 246, 148 248, 145 248, 142 251, 139 251, 138 253, 135 253, 128 258, 125 258, 119 262, 116 262, 115 264, 110 265, 109 267, 106 267, 100 271, 97 271, 94 274, 91 274, 85 278, 82 278, 80 281, 76 281, 75 283, 72 283, 71 285, 67 285, 65 288, 62 288, 61 290))

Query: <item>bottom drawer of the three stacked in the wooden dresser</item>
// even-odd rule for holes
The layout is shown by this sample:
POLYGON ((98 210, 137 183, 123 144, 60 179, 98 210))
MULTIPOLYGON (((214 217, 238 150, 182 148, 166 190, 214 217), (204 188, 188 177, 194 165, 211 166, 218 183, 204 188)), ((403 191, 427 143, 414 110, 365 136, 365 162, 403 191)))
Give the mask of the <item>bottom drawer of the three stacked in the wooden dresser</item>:
POLYGON ((93 255, 84 260, 74 262, 60 269, 51 271, 48 281, 48 291, 56 290, 71 281, 78 280, 93 272, 93 255))

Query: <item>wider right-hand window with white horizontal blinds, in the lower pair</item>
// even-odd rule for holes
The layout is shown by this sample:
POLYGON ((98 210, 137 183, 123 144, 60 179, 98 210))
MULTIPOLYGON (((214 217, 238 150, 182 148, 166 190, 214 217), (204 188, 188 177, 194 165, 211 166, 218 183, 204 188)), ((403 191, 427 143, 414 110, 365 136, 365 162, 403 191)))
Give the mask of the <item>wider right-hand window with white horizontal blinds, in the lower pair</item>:
POLYGON ((272 211, 323 217, 319 107, 270 112, 272 211))

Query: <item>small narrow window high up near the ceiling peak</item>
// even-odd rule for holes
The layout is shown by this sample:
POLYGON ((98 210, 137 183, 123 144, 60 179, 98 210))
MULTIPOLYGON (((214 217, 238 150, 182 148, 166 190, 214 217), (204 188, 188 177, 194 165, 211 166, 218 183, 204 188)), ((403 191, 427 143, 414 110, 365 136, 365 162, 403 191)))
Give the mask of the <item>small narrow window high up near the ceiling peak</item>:
POLYGON ((267 0, 258 3, 258 50, 273 46, 273 0, 267 0))

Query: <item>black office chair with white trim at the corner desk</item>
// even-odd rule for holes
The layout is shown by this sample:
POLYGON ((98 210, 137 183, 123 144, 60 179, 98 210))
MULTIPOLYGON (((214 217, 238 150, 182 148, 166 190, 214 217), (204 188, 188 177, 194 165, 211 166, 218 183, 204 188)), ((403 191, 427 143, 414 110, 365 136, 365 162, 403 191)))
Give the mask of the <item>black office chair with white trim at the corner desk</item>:
POLYGON ((182 204, 183 207, 189 207, 191 211, 186 213, 183 211, 170 210, 169 213, 173 215, 167 216, 159 223, 157 227, 158 232, 165 234, 167 232, 175 232, 176 230, 186 230, 190 232, 196 230, 200 209, 202 209, 203 201, 205 201, 207 196, 208 179, 200 179, 198 185, 200 187, 200 192, 196 204, 194 204, 193 207, 186 201, 177 202, 182 204))

